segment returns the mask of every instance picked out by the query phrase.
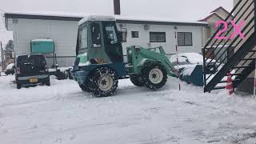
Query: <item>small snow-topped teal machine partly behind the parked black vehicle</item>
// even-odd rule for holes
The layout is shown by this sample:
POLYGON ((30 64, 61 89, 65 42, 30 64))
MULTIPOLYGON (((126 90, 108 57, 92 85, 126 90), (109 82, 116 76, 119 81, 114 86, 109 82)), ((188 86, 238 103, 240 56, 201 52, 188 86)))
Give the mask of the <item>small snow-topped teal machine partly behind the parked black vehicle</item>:
POLYGON ((53 39, 34 39, 30 42, 31 54, 52 54, 53 66, 49 69, 49 74, 54 75, 58 80, 72 78, 70 74, 71 67, 59 67, 57 55, 54 48, 53 39))

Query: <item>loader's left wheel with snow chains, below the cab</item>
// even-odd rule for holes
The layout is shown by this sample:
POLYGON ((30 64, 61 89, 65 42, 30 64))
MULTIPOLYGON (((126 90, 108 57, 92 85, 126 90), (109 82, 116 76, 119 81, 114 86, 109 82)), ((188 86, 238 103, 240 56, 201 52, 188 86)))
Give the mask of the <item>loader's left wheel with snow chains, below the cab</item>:
POLYGON ((118 88, 118 74, 108 67, 101 67, 91 74, 90 82, 94 95, 107 97, 113 95, 118 88))

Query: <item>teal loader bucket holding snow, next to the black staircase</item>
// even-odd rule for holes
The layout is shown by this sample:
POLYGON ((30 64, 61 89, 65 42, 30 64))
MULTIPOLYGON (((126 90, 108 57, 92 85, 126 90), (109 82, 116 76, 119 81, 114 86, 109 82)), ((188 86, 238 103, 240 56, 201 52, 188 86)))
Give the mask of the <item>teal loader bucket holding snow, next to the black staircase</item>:
POLYGON ((185 66, 179 69, 180 79, 194 86, 203 86, 202 65, 185 66))

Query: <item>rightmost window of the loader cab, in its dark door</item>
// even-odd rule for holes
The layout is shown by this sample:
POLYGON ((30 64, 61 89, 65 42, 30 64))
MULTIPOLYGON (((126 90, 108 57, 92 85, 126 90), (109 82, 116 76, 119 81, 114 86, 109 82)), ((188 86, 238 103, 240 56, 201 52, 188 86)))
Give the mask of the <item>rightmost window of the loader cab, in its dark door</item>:
POLYGON ((106 26, 106 38, 108 44, 116 44, 118 43, 118 37, 114 28, 113 24, 107 25, 106 26))

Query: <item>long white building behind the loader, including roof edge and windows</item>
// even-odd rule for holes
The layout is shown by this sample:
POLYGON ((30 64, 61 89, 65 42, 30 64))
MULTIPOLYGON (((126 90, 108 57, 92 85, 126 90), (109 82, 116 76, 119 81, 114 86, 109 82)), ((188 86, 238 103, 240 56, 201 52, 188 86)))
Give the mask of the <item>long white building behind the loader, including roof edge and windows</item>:
MULTIPOLYGON (((206 42, 206 22, 174 22, 161 19, 124 18, 115 16, 118 29, 128 30, 126 46, 163 46, 167 54, 175 54, 174 32, 178 32, 180 52, 201 53, 206 42)), ((21 14, 6 13, 6 29, 13 30, 15 55, 30 54, 33 39, 53 39, 58 64, 72 66, 74 63, 78 21, 83 14, 21 14)), ((51 64, 51 55, 48 63, 51 64)))

